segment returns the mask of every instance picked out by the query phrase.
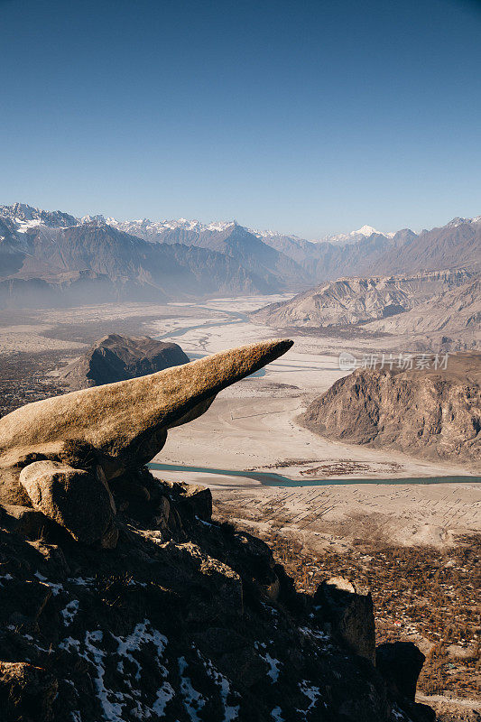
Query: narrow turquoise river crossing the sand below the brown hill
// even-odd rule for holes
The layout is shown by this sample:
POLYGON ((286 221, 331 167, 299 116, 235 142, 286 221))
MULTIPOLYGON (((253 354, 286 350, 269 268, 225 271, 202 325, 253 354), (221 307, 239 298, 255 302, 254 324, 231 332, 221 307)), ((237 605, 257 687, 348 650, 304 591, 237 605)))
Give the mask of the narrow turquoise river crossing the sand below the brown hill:
POLYGON ((223 477, 246 477, 260 481, 264 486, 341 486, 347 484, 466 484, 481 482, 481 477, 405 477, 405 478, 339 478, 325 479, 291 479, 271 471, 234 471, 226 468, 184 467, 177 464, 157 464, 154 461, 147 465, 155 471, 193 471, 198 474, 217 474, 223 477))

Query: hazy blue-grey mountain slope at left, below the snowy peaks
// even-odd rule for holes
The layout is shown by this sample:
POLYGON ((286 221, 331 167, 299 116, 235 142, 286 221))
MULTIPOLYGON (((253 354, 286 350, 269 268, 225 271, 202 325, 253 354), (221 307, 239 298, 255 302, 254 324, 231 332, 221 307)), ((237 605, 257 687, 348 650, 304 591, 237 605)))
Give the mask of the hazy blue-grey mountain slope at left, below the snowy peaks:
POLYGON ((272 273, 262 268, 249 271, 233 255, 197 246, 148 243, 98 221, 71 227, 41 224, 23 232, 5 217, 0 232, 0 302, 4 305, 77 302, 71 283, 85 281, 86 274, 90 285, 95 281, 96 286, 90 288, 93 295, 88 302, 163 301, 279 289, 272 273), (72 277, 72 273, 80 275, 72 277))

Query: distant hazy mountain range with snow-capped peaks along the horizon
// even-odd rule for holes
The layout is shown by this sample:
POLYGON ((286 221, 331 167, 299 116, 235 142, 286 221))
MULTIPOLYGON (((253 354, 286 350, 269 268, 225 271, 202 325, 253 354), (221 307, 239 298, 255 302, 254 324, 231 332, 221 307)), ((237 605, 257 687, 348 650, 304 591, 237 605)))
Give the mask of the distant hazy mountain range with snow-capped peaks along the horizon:
POLYGON ((480 251, 481 217, 312 242, 236 221, 75 218, 15 203, 0 206, 0 307, 300 292, 343 276, 477 268, 480 251))

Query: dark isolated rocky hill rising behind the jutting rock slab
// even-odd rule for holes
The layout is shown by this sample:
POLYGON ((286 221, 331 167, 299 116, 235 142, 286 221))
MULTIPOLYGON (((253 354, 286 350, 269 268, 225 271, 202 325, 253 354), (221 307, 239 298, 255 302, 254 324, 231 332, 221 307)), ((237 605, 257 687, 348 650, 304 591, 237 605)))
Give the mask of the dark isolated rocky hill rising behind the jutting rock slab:
POLYGON ((178 344, 109 334, 63 368, 60 379, 71 388, 83 389, 154 374, 189 360, 178 344))

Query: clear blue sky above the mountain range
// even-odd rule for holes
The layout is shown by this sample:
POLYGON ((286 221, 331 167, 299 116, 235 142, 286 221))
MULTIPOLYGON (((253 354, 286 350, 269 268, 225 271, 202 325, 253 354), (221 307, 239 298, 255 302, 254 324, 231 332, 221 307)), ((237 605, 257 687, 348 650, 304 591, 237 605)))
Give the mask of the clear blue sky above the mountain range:
POLYGON ((481 214, 481 0, 0 0, 0 203, 304 237, 481 214))

